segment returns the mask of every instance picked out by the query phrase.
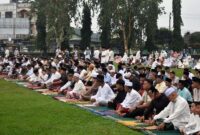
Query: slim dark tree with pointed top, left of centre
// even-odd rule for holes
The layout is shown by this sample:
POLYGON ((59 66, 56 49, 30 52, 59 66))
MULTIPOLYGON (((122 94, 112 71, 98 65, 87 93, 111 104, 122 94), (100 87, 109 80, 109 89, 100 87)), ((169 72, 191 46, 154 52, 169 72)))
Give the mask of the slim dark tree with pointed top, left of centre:
POLYGON ((83 18, 82 18, 82 29, 81 29, 81 49, 85 50, 86 47, 90 47, 91 36, 92 36, 92 19, 91 11, 89 6, 83 3, 83 18))

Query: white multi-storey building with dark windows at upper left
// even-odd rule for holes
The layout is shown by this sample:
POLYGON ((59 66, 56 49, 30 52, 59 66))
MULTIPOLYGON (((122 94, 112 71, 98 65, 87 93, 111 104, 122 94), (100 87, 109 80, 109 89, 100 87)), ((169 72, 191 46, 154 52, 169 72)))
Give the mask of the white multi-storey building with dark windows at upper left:
POLYGON ((30 4, 0 4, 0 40, 23 39, 36 35, 35 18, 30 18, 30 4))

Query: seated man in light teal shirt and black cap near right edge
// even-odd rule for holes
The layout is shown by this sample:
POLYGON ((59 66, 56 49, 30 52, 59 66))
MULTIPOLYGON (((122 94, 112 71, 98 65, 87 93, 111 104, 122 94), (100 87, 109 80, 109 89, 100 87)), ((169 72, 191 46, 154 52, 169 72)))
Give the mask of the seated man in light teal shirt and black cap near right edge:
POLYGON ((184 98, 186 101, 191 103, 193 101, 192 95, 188 88, 185 87, 186 82, 184 80, 179 80, 178 83, 178 95, 184 98))

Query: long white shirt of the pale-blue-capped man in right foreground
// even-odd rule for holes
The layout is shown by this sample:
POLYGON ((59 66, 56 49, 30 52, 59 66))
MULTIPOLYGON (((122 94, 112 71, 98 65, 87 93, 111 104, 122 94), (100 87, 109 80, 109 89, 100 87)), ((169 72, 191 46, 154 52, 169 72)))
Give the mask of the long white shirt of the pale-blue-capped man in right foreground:
POLYGON ((154 120, 164 119, 165 123, 172 122, 174 127, 184 127, 190 118, 190 108, 187 101, 178 96, 175 102, 170 102, 165 109, 154 117, 154 120))

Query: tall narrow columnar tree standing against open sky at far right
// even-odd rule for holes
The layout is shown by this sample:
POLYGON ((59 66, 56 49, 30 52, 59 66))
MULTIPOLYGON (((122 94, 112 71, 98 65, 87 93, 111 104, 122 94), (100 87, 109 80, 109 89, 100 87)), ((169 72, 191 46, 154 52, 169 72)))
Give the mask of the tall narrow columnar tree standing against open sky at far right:
POLYGON ((172 41, 172 50, 181 50, 184 47, 183 38, 181 36, 181 25, 183 25, 181 17, 181 0, 173 0, 173 41, 172 41))

